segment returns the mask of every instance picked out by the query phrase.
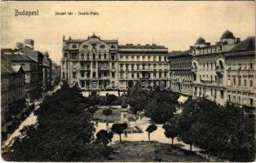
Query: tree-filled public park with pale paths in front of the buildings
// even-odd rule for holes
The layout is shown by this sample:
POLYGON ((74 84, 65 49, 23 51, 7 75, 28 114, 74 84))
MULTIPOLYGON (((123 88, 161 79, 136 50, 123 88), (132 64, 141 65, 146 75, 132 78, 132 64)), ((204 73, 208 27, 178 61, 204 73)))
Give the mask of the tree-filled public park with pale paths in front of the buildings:
POLYGON ((166 90, 63 85, 2 144, 5 161, 253 161, 254 114, 166 90), (182 112, 178 112, 182 110, 182 112), (243 138, 243 139, 241 139, 243 138))

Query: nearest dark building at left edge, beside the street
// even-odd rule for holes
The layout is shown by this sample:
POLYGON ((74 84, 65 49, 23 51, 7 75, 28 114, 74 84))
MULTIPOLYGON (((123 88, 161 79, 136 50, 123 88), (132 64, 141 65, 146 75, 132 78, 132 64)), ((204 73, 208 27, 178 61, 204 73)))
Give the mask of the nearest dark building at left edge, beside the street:
MULTIPOLYGON (((3 53, 2 53, 3 54, 3 53)), ((25 105, 24 70, 1 54, 1 124, 11 120, 25 105)))

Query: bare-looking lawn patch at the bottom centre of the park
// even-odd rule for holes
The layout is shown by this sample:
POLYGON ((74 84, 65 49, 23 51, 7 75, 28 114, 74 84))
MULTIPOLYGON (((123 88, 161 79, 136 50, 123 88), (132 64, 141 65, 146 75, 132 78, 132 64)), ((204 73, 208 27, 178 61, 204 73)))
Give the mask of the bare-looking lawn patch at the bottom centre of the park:
POLYGON ((123 142, 116 143, 111 146, 114 148, 113 154, 110 156, 114 162, 144 162, 155 161, 155 150, 158 151, 158 158, 165 162, 205 162, 203 157, 197 156, 193 152, 174 146, 168 143, 157 143, 148 141, 139 142, 123 142))

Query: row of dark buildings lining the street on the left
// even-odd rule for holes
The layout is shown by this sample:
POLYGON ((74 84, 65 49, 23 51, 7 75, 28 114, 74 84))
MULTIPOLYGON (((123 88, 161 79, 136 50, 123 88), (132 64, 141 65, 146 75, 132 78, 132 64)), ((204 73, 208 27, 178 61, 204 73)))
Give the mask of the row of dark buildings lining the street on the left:
POLYGON ((47 52, 35 51, 33 40, 17 42, 15 49, 1 49, 2 124, 59 82, 60 65, 47 52))

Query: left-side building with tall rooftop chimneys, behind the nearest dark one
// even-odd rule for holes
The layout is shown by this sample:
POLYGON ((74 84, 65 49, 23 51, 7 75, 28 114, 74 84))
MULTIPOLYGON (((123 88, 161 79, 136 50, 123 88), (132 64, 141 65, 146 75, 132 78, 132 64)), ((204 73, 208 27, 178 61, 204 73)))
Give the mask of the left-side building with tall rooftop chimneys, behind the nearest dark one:
POLYGON ((22 65, 25 73, 25 93, 29 100, 38 99, 43 88, 43 55, 40 51, 33 50, 33 40, 25 40, 24 44, 17 42, 15 50, 2 49, 13 64, 22 65))

